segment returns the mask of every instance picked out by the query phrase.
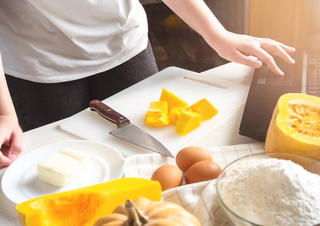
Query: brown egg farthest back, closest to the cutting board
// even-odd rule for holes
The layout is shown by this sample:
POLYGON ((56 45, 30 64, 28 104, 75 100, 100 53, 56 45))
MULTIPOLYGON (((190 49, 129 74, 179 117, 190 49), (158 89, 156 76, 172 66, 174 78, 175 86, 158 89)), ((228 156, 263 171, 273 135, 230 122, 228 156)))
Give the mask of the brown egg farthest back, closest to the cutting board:
POLYGON ((200 161, 212 161, 211 154, 200 147, 190 146, 182 148, 175 157, 180 170, 187 172, 190 166, 200 161))

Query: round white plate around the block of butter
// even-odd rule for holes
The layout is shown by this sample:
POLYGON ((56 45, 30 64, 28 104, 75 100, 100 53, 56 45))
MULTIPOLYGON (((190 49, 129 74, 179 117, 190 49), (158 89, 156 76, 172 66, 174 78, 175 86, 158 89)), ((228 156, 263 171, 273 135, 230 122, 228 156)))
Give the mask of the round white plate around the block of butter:
POLYGON ((21 155, 12 163, 2 178, 2 190, 15 204, 42 195, 82 188, 112 179, 118 179, 124 171, 123 156, 114 148, 92 141, 65 141, 46 145, 21 155), (37 163, 70 147, 90 156, 88 170, 64 187, 43 182, 37 173, 37 163))

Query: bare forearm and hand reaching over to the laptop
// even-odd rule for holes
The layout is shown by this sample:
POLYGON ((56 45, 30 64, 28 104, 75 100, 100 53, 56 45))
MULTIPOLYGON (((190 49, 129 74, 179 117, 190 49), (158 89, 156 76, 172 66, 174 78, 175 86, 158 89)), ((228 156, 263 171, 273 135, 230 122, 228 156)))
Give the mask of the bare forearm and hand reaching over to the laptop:
POLYGON ((292 47, 268 38, 256 38, 226 31, 203 0, 163 0, 163 2, 198 32, 224 59, 256 68, 265 62, 270 70, 279 76, 283 76, 284 73, 272 56, 279 56, 289 64, 294 63, 289 55, 295 51, 292 47))

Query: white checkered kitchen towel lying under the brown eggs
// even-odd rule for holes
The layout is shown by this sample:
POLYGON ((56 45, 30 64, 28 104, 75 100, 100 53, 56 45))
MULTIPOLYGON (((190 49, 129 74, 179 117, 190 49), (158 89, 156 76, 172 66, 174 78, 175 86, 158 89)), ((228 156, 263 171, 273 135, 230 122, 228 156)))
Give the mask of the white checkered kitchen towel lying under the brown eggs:
MULTIPOLYGON (((249 154, 264 152, 263 143, 242 144, 207 148, 213 161, 221 169, 231 162, 249 154)), ((126 157, 125 177, 143 177, 150 179, 152 173, 165 164, 175 165, 175 160, 157 153, 139 154, 126 157)), ((216 180, 200 182, 166 190, 162 193, 163 201, 171 201, 184 207, 195 215, 203 226, 228 225, 219 206, 215 191, 216 180)))

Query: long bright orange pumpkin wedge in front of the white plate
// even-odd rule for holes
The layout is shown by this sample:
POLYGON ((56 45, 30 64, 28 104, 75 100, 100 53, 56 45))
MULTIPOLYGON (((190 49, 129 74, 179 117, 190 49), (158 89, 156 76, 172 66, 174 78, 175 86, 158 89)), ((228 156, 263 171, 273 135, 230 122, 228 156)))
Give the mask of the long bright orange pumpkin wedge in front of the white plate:
POLYGON ((55 193, 16 206, 22 225, 88 226, 110 214, 128 198, 161 199, 158 182, 144 178, 121 178, 85 188, 55 193))

